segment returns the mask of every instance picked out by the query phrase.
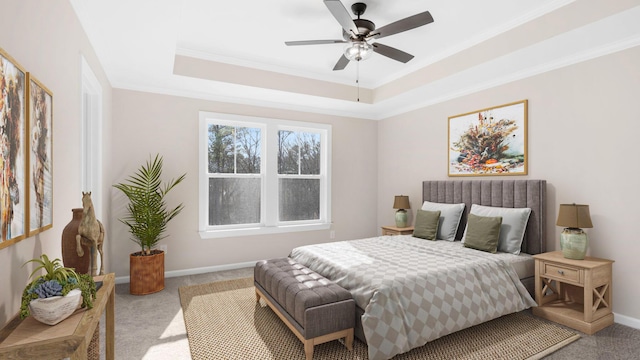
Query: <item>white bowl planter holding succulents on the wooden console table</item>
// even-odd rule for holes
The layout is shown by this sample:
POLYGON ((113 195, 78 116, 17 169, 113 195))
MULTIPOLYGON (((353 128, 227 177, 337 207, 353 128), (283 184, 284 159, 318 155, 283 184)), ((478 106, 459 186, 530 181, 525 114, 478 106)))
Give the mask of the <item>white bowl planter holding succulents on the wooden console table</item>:
POLYGON ((29 312, 34 319, 41 323, 55 325, 71 316, 81 302, 82 291, 73 289, 66 296, 31 300, 29 312))

